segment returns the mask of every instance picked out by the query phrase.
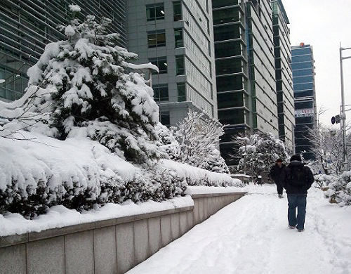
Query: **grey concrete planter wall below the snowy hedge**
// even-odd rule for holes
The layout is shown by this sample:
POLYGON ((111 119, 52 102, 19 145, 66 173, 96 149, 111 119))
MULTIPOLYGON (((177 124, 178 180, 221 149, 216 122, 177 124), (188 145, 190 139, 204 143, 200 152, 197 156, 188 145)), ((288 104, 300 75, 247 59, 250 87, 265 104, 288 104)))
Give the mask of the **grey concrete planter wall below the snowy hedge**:
POLYGON ((243 195, 192 195, 194 207, 0 237, 0 274, 125 273, 243 195))

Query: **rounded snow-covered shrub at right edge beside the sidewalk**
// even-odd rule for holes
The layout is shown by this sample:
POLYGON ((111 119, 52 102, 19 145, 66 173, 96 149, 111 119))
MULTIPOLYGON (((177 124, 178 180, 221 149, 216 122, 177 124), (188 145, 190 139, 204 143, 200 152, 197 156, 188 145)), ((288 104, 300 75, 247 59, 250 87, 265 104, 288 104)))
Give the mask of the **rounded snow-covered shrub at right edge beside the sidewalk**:
POLYGON ((329 190, 325 192, 330 202, 343 205, 351 204, 351 171, 344 171, 336 177, 336 180, 329 183, 329 190))

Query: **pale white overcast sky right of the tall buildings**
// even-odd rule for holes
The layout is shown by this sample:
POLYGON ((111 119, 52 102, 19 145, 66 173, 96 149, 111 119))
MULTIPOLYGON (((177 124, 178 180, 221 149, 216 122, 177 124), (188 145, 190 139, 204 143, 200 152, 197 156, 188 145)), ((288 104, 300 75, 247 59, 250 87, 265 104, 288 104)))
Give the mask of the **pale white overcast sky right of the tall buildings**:
MULTIPOLYGON (((331 126, 341 104, 340 42, 351 47, 351 0, 282 0, 290 21, 291 46, 301 42, 313 46, 317 110, 326 112, 320 121, 331 126)), ((343 57, 351 56, 351 49, 343 57)), ((351 58, 343 60, 345 105, 351 104, 351 58)), ((346 109, 349 109, 347 107, 346 109)), ((351 122, 351 111, 346 112, 351 122)), ((338 125, 339 126, 339 125, 338 125)))

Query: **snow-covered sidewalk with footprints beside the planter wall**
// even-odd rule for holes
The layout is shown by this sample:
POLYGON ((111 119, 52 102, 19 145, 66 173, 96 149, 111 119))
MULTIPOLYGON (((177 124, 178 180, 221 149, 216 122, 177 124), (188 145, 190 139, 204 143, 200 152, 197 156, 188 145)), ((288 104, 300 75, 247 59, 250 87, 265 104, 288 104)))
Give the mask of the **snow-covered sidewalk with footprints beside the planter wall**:
POLYGON ((242 197, 157 254, 135 273, 351 273, 351 207, 307 195, 305 231, 287 228, 287 200, 273 185, 249 186, 242 197))

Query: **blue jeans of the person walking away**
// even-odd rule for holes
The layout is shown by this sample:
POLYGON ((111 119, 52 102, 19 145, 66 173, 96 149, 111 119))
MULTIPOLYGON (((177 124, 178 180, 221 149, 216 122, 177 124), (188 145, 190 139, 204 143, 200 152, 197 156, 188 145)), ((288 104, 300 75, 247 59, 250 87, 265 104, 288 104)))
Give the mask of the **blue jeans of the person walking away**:
POLYGON ((288 221, 289 226, 303 229, 306 216, 306 194, 288 194, 288 221), (298 216, 296 216, 296 207, 298 216))

